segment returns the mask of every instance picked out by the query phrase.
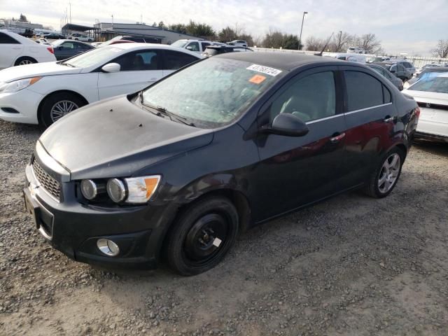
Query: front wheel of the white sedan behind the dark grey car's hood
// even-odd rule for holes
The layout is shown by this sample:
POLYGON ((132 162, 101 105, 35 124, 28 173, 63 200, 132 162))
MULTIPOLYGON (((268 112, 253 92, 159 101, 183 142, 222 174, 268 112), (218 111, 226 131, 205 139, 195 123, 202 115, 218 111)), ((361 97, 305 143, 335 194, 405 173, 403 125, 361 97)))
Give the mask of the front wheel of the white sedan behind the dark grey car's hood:
POLYGON ((70 92, 50 94, 42 104, 39 125, 42 130, 45 130, 52 123, 59 120, 59 118, 85 105, 87 103, 83 99, 70 92))

